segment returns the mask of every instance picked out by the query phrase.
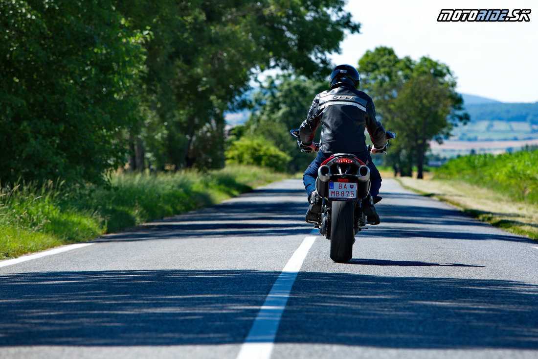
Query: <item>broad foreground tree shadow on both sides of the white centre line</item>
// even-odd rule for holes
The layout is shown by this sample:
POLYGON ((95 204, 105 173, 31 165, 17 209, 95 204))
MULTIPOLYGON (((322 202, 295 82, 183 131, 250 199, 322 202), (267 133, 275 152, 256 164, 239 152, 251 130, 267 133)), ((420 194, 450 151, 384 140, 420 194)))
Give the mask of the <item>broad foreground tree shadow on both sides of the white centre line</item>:
MULTIPOLYGON (((420 264, 419 264, 420 265, 420 264)), ((242 343, 278 272, 39 272, 0 277, 0 346, 242 343)), ((538 349, 538 286, 301 272, 277 342, 538 349)))

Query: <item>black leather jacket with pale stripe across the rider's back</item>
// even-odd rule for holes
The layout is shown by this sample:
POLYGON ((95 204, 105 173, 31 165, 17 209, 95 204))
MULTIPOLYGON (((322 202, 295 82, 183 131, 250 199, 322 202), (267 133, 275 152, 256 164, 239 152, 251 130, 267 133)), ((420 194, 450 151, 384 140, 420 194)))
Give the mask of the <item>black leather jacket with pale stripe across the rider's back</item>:
POLYGON ((366 151, 365 129, 374 147, 385 145, 385 129, 376 120, 372 99, 350 85, 341 84, 316 95, 299 129, 303 144, 312 143, 320 123, 323 124, 320 148, 323 153, 366 151))

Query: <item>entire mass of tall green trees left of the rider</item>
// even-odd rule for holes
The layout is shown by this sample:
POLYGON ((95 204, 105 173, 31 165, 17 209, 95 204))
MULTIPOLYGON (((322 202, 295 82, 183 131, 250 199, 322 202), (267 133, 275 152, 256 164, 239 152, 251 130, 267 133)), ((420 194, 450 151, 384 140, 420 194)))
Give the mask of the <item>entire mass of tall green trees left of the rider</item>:
POLYGON ((0 2, 0 179, 215 168, 224 113, 268 68, 318 76, 344 0, 0 2), (150 163, 148 163, 148 161, 150 163))

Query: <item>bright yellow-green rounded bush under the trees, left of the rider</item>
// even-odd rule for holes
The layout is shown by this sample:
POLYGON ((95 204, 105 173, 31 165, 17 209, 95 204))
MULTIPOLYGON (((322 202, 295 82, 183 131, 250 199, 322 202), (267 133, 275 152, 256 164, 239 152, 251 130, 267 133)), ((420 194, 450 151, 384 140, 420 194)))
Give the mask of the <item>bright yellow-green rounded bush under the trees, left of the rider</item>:
POLYGON ((263 139, 242 137, 226 151, 226 164, 258 165, 275 171, 286 171, 291 157, 263 139))

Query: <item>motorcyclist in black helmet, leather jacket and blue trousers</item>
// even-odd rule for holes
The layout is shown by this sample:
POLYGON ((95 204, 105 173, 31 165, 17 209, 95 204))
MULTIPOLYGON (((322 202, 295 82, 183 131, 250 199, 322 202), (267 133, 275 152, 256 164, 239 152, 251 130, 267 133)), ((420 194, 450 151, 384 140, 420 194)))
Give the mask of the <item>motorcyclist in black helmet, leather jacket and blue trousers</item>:
POLYGON ((370 194, 363 199, 363 211, 368 222, 379 224, 374 204, 381 200, 379 189, 381 175, 372 162, 366 147, 365 129, 373 143, 372 153, 383 150, 386 141, 385 129, 376 120, 376 108, 369 95, 359 91, 360 76, 351 65, 338 65, 332 70, 331 88, 317 94, 312 101, 306 120, 299 129, 301 148, 306 152, 316 150, 314 135, 320 123, 322 146, 308 166, 303 183, 308 194, 309 207, 305 219, 318 222, 322 198, 316 194, 317 170, 321 163, 335 153, 355 155, 370 168, 370 194))

